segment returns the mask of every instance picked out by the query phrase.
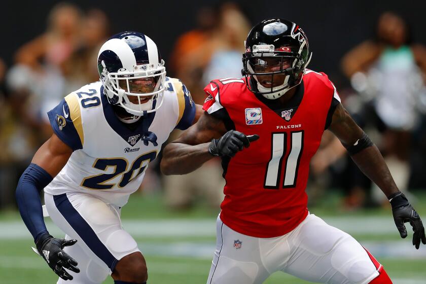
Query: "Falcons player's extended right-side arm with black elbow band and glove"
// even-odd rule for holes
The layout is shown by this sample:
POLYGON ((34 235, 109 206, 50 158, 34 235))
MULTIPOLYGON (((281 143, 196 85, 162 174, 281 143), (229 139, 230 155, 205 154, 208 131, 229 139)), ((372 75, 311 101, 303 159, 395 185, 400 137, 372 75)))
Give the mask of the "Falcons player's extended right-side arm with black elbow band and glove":
POLYGON ((417 212, 396 186, 392 175, 377 147, 367 134, 353 121, 349 113, 337 105, 329 129, 340 139, 352 160, 387 196, 392 205, 395 224, 401 237, 407 236, 404 223, 413 227, 413 245, 420 246, 420 240, 426 244, 423 224, 417 212))

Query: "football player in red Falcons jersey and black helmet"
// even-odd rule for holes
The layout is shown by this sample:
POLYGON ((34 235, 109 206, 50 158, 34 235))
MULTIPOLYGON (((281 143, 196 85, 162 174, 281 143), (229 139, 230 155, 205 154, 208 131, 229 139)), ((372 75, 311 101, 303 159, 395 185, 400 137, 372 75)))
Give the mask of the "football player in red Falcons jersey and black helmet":
POLYGON ((309 214, 309 162, 325 129, 388 197, 401 237, 410 222, 415 247, 426 244, 417 212, 377 147, 342 107, 327 75, 305 68, 309 60, 298 25, 257 24, 245 42, 244 77, 211 81, 204 114, 164 149, 165 174, 222 157, 225 199, 208 284, 262 283, 278 270, 322 283, 392 283, 359 242, 309 214))

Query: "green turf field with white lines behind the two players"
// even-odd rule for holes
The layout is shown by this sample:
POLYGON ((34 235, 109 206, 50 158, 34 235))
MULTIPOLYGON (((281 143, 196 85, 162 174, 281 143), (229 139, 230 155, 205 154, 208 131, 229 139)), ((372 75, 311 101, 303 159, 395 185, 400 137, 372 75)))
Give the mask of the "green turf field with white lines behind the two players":
MULTIPOLYGON (((346 230, 377 256, 396 284, 426 284, 426 246, 413 248, 411 234, 401 240, 389 208, 341 212, 337 197, 325 198, 311 212, 346 230)), ((416 208, 426 216, 426 195, 416 208)), ((138 242, 148 263, 149 283, 205 283, 215 247, 218 211, 203 203, 187 212, 168 211, 158 196, 133 195, 123 208, 123 225, 138 242)), ((0 214, 0 283, 55 283, 56 276, 35 255, 32 240, 14 211, 0 214)), ((60 234, 52 224, 49 230, 60 234)), ((104 283, 112 284, 112 279, 104 283)), ((274 273, 266 284, 308 283, 284 273, 274 273)))

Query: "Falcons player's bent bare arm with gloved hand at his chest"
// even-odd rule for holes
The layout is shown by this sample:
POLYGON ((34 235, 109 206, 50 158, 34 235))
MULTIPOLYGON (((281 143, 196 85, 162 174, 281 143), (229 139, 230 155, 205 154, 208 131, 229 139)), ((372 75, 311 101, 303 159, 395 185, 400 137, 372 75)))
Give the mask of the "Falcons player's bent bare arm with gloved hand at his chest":
POLYGON ((196 124, 164 148, 161 171, 166 175, 189 173, 214 156, 235 156, 258 138, 235 130, 226 131, 222 120, 203 113, 196 124))

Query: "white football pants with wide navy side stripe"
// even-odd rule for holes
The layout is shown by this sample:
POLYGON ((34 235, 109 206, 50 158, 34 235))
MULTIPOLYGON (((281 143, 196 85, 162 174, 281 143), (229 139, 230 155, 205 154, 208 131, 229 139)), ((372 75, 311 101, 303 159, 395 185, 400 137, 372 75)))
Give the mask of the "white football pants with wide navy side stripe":
POLYGON ((57 284, 100 284, 120 259, 139 252, 136 241, 121 226, 119 207, 84 193, 45 193, 45 203, 65 238, 77 239, 64 251, 78 262, 80 273, 68 270, 74 279, 59 278, 57 284))

